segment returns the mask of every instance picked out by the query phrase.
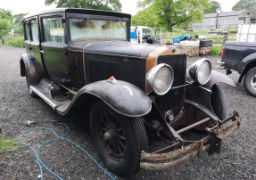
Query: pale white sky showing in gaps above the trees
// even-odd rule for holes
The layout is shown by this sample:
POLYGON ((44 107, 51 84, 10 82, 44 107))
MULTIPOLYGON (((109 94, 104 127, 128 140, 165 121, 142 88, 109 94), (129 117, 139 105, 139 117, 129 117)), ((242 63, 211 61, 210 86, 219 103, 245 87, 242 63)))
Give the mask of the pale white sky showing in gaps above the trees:
MULTIPOLYGON (((17 13, 36 13, 43 10, 54 9, 55 4, 45 5, 45 0, 1 0, 0 8, 12 11, 12 15, 17 13)), ((232 11, 232 7, 239 0, 217 0, 221 5, 223 12, 232 11)), ((135 15, 138 11, 136 3, 138 0, 120 0, 122 4, 122 12, 135 15)))

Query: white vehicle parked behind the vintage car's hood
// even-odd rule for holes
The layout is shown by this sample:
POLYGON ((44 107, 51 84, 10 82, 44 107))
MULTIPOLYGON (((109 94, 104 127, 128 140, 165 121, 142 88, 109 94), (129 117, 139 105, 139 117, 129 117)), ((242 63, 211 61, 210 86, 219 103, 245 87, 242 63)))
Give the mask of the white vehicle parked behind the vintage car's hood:
POLYGON ((160 28, 153 29, 146 26, 131 26, 130 27, 130 42, 137 44, 153 44, 161 45, 162 30, 160 28))

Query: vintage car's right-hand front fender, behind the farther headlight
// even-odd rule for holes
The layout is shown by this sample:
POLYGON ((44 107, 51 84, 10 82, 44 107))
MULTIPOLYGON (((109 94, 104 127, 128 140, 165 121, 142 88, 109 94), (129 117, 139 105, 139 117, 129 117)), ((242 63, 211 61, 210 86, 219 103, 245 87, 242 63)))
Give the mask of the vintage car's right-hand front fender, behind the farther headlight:
MULTIPOLYGON (((186 73, 186 80, 193 81, 193 79, 189 76, 189 73, 186 73)), ((216 83, 224 83, 229 86, 235 86, 234 81, 231 78, 228 78, 227 75, 224 75, 216 70, 211 70, 211 77, 209 81, 205 85, 202 85, 202 87, 211 89, 211 87, 216 83)))

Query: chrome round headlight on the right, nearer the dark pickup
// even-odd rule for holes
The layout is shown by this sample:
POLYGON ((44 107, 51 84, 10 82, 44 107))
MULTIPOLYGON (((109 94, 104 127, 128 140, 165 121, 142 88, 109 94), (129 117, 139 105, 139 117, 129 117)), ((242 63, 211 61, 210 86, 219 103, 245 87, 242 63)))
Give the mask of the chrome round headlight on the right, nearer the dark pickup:
POLYGON ((189 67, 188 72, 196 83, 205 85, 211 76, 211 62, 207 59, 195 61, 189 67))

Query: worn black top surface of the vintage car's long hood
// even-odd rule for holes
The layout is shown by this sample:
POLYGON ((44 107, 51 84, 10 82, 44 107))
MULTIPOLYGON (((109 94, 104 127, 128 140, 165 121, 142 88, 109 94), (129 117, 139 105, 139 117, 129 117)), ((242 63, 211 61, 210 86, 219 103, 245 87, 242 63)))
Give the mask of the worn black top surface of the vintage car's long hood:
POLYGON ((124 57, 146 59, 147 55, 161 45, 139 45, 123 41, 71 41, 68 45, 70 51, 86 53, 112 54, 124 57))

